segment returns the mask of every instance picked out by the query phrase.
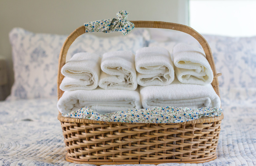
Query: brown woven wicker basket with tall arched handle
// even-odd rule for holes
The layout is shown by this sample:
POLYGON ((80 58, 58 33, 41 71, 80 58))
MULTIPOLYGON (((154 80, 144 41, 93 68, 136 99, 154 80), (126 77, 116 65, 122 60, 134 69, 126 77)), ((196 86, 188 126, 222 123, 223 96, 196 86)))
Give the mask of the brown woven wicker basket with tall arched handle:
MULTIPOLYGON (((159 21, 131 21, 136 28, 165 28, 193 36, 203 47, 215 78, 212 86, 220 96, 219 82, 211 49, 197 31, 185 25, 159 21)), ((85 27, 75 29, 66 39, 59 56, 58 99, 63 94, 59 86, 64 76, 61 68, 75 39, 85 33, 85 27)), ((67 118, 59 112, 66 160, 88 164, 159 164, 202 163, 215 159, 223 114, 182 123, 120 123, 67 118)))

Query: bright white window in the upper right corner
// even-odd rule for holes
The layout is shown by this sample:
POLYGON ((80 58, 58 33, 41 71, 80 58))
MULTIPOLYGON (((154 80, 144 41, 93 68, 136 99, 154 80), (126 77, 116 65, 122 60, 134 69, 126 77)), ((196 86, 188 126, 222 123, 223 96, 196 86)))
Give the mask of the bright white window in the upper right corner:
POLYGON ((202 34, 256 35, 256 0, 189 0, 189 25, 202 34))

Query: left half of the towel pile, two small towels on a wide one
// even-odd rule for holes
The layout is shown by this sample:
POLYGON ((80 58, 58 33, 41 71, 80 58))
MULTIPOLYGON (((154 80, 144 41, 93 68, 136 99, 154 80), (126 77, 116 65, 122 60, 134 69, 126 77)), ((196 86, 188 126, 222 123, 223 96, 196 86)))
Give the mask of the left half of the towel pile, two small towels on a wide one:
POLYGON ((60 84, 65 92, 57 103, 61 113, 85 106, 99 114, 141 108, 132 52, 108 52, 102 59, 88 52, 77 53, 61 73, 65 76, 60 84))

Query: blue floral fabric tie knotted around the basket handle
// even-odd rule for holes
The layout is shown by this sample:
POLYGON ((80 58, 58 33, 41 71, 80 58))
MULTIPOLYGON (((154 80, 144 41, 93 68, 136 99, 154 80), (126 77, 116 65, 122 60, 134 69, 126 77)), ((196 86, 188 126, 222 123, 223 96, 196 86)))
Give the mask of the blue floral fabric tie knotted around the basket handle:
POLYGON ((118 20, 115 18, 111 18, 85 23, 85 33, 100 31, 104 33, 110 33, 121 31, 123 35, 126 35, 134 28, 134 24, 130 21, 127 21, 128 14, 129 13, 127 11, 120 10, 117 12, 118 20))

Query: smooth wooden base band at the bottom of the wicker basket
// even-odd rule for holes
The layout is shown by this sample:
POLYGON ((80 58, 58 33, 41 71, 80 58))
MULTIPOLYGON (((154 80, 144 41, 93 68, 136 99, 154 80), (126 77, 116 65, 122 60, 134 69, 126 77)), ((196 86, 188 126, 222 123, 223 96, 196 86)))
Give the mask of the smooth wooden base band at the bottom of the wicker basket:
POLYGON ((69 157, 68 155, 66 155, 66 160, 69 162, 73 162, 73 163, 78 163, 78 164, 94 164, 94 165, 120 165, 120 164, 154 164, 154 165, 158 165, 158 164, 162 164, 162 163, 204 163, 204 162, 209 162, 211 160, 214 160, 217 158, 217 155, 214 154, 210 157, 203 157, 203 158, 195 158, 195 159, 186 159, 186 160, 182 160, 182 159, 168 159, 168 161, 164 161, 163 159, 160 159, 158 162, 156 162, 156 160, 154 160, 153 162, 150 162, 150 160, 147 160, 147 162, 145 161, 134 161, 134 162, 124 162, 122 161, 114 161, 114 160, 105 160, 105 162, 93 162, 90 160, 86 159, 79 159, 79 158, 74 158, 74 157, 69 157), (189 161, 190 160, 190 161, 189 161))

